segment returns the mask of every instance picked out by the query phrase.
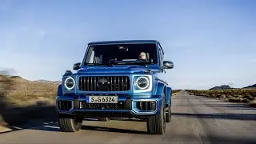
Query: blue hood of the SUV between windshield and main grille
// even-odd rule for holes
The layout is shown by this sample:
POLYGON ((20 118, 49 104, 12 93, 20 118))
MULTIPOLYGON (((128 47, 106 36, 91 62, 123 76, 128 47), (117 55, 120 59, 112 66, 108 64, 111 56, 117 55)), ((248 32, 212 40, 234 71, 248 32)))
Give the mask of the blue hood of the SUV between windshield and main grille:
POLYGON ((145 66, 87 66, 78 70, 77 74, 153 74, 158 69, 145 66))

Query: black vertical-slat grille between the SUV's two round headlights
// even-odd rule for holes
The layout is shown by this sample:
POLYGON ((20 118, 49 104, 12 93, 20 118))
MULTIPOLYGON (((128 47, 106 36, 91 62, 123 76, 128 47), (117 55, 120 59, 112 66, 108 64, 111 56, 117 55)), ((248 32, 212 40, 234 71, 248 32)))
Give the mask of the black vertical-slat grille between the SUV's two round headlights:
POLYGON ((130 90, 130 79, 128 76, 80 77, 78 88, 83 91, 125 91, 130 90), (109 85, 104 87, 104 89, 98 86, 98 80, 101 78, 106 78, 109 81, 109 85))

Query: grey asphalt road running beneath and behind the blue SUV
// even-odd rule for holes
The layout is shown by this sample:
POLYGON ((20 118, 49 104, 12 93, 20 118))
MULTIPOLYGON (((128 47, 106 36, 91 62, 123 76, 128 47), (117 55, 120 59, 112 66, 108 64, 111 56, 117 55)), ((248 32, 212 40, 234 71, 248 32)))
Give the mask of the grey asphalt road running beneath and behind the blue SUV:
POLYGON ((57 122, 50 122, 0 134, 0 143, 256 143, 255 108, 184 91, 172 102, 165 135, 146 134, 146 122, 90 119, 78 133, 62 133, 57 122))

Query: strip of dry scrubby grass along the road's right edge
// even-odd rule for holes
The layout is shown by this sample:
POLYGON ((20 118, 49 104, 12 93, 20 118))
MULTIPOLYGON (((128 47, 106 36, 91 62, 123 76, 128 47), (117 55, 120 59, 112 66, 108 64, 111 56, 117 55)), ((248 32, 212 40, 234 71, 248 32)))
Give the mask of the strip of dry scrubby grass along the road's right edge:
POLYGON ((191 95, 220 98, 229 102, 255 104, 256 89, 230 89, 230 90, 186 90, 191 95))

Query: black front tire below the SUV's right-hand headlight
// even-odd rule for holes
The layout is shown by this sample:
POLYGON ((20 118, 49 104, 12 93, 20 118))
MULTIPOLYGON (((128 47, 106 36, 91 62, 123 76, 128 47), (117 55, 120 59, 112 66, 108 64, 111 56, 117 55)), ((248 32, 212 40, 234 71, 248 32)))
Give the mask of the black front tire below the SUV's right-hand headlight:
POLYGON ((147 131, 149 134, 166 133, 166 104, 165 95, 162 98, 162 106, 158 115, 151 116, 146 121, 147 131))

